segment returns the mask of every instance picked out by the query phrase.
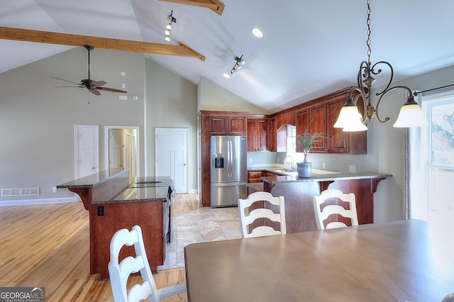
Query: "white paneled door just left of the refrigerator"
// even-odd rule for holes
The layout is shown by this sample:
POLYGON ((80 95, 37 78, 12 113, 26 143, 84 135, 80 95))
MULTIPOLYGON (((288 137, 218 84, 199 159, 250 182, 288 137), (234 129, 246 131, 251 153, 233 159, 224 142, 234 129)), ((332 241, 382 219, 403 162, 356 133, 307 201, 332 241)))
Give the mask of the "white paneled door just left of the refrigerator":
POLYGON ((187 193, 187 128, 156 128, 155 174, 170 176, 177 193, 187 193))

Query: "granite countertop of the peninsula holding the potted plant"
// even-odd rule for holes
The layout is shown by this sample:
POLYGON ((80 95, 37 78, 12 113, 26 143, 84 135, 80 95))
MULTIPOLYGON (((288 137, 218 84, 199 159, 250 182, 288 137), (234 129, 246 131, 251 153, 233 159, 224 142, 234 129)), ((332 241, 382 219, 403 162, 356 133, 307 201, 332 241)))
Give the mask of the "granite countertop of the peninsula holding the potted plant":
MULTIPOLYGON (((313 169, 314 171, 314 169, 313 169)), ((323 170, 316 170, 323 171, 323 170)), ((298 176, 275 176, 275 177, 260 177, 262 181, 268 182, 270 184, 279 184, 287 182, 303 182, 303 181, 331 181, 336 179, 371 179, 371 178, 382 178, 382 177, 392 177, 391 174, 383 174, 377 172, 358 172, 358 173, 312 173, 311 178, 304 178, 298 176)))

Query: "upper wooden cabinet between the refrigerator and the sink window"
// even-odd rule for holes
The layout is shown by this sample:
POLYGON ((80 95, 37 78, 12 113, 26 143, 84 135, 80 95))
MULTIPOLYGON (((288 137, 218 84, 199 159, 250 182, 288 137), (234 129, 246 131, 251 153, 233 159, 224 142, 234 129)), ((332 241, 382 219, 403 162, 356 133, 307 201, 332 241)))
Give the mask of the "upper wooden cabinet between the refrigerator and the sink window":
POLYGON ((248 152, 268 151, 269 118, 248 117, 248 152))

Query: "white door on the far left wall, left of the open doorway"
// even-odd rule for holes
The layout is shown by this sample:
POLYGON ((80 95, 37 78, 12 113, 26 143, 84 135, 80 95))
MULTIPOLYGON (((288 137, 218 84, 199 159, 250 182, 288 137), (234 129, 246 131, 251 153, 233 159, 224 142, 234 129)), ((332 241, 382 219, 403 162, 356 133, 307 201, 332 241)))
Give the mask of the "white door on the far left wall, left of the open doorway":
POLYGON ((99 128, 74 125, 74 178, 99 172, 99 128))

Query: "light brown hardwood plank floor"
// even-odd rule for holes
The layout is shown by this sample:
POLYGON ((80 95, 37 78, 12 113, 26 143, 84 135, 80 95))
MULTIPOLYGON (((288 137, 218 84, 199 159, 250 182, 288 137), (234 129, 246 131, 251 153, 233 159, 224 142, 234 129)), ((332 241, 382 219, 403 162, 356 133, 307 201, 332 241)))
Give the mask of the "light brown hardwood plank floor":
MULTIPOLYGON (((197 194, 175 196, 174 216, 196 208, 197 194)), ((0 229, 0 286, 44 286, 46 301, 114 301, 109 280, 89 274, 89 213, 82 202, 1 206, 0 229)), ((184 268, 153 276, 157 288, 186 282, 184 268)))

